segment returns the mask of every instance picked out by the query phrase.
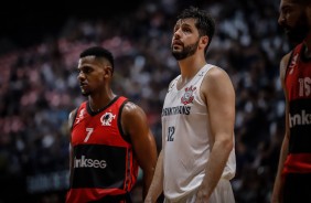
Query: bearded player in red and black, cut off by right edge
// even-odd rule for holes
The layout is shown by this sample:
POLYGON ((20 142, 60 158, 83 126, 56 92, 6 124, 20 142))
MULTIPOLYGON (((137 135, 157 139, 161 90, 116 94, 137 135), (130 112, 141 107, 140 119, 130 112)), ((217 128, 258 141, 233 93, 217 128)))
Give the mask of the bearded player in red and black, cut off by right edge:
POLYGON ((296 46, 280 62, 286 133, 271 202, 311 202, 311 0, 281 0, 278 22, 296 46))

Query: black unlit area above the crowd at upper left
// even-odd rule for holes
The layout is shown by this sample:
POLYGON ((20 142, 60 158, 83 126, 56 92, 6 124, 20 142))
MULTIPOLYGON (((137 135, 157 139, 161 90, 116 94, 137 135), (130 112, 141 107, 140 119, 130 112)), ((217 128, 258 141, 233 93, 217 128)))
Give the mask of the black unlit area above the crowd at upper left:
POLYGON ((57 34, 66 19, 97 19, 132 12, 143 0, 133 1, 10 1, 0 12, 0 39, 29 46, 43 35, 57 34))

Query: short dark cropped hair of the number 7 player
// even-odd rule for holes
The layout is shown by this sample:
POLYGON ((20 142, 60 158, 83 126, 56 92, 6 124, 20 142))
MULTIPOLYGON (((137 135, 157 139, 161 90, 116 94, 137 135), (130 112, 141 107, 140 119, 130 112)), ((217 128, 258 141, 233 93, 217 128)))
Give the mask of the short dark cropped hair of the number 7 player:
POLYGON ((115 58, 114 58, 114 55, 112 55, 112 53, 109 50, 107 50, 105 47, 101 47, 101 46, 88 47, 88 49, 86 49, 85 51, 83 51, 79 54, 81 58, 85 57, 85 56, 105 57, 111 64, 112 72, 115 70, 115 58))

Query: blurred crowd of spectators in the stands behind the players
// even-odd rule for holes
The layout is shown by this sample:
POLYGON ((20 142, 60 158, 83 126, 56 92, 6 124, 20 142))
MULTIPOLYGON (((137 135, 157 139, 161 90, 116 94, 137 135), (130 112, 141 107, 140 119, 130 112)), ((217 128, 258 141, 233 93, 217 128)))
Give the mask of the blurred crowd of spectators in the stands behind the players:
MULTIPOLYGON (((90 45, 114 53, 112 88, 146 110, 160 151, 162 101, 179 74, 170 44, 176 13, 185 7, 180 2, 144 0, 110 18, 72 17, 57 34, 28 47, 0 46, 0 203, 64 201, 67 117, 86 99, 76 67, 78 54, 90 45)), ((290 50, 277 23, 278 3, 200 4, 216 19, 207 62, 224 68, 236 89, 237 173, 232 183, 237 203, 268 202, 277 170, 285 122, 279 61, 290 50)), ((133 191, 139 200, 136 195, 140 183, 133 191)))

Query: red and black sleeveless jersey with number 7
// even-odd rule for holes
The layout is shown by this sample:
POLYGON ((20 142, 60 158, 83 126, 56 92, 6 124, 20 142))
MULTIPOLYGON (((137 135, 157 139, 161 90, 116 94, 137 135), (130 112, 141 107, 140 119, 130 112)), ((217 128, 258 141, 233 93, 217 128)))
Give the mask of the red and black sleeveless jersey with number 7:
POLYGON ((136 183, 138 163, 120 121, 126 101, 125 97, 116 97, 96 114, 88 101, 77 109, 71 135, 74 164, 67 203, 125 194, 136 183))

